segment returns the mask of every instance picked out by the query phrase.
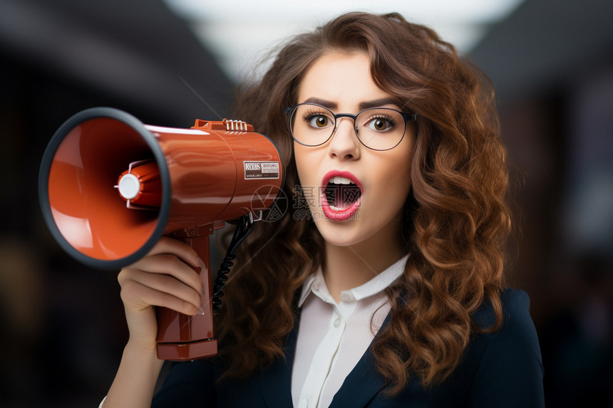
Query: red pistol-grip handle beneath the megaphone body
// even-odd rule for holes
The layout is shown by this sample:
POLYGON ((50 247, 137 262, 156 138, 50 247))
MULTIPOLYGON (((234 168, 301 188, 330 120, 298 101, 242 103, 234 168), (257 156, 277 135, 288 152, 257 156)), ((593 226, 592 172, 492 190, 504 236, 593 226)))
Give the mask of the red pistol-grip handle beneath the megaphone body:
POLYGON ((188 316, 168 308, 158 308, 158 358, 197 360, 217 354, 212 319, 209 236, 178 239, 189 244, 202 261, 202 315, 188 316))

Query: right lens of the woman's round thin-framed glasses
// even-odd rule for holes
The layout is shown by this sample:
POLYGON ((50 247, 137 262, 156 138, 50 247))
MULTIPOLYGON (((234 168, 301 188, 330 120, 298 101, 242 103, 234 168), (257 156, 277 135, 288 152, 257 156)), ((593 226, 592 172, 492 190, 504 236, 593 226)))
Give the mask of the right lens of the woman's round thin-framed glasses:
POLYGON ((356 132, 364 145, 374 150, 388 150, 400 143, 406 123, 393 109, 373 108, 356 117, 356 132))

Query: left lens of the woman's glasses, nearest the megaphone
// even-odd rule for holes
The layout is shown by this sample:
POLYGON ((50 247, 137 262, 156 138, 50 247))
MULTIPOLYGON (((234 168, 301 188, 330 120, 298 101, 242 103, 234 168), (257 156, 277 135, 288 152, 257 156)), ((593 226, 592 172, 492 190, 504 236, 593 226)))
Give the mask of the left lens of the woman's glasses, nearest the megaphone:
POLYGON ((292 135, 297 142, 317 146, 326 142, 334 132, 334 114, 319 105, 297 105, 289 118, 292 135))

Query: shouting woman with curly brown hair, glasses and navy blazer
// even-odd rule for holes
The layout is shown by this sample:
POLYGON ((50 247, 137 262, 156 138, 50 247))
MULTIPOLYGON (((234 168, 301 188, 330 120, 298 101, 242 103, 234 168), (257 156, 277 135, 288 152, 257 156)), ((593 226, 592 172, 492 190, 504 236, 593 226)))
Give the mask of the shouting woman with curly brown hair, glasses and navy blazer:
MULTIPOLYGON (((220 355, 175 365, 154 406, 544 404, 527 295, 503 289, 508 173, 479 70, 398 14, 345 14, 284 46, 237 113, 284 152, 294 199, 243 244, 220 355)), ((197 313, 197 266, 163 239, 121 271, 104 407, 149 406, 152 305, 197 313)))

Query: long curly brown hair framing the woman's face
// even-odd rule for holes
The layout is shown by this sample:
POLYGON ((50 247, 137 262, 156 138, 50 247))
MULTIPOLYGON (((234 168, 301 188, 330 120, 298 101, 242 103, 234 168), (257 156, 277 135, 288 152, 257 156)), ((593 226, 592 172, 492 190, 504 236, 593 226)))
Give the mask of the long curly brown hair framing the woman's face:
MULTIPOLYGON (((237 99, 237 117, 277 143, 284 155, 284 192, 299 184, 283 107, 324 53, 365 52, 375 83, 418 113, 403 237, 411 255, 403 276, 386 289, 390 320, 371 350, 393 394, 409 377, 443 381, 471 335, 503 321, 503 246, 510 233, 508 169, 493 88, 478 68, 427 28, 399 14, 344 14, 283 46, 271 68, 237 99), (496 323, 480 328, 483 303, 496 323)), ((324 256, 314 223, 294 217, 260 223, 240 249, 217 316, 220 353, 231 377, 249 377, 283 356, 294 328, 295 296, 324 256), (294 219, 297 218, 297 219, 294 219)))

